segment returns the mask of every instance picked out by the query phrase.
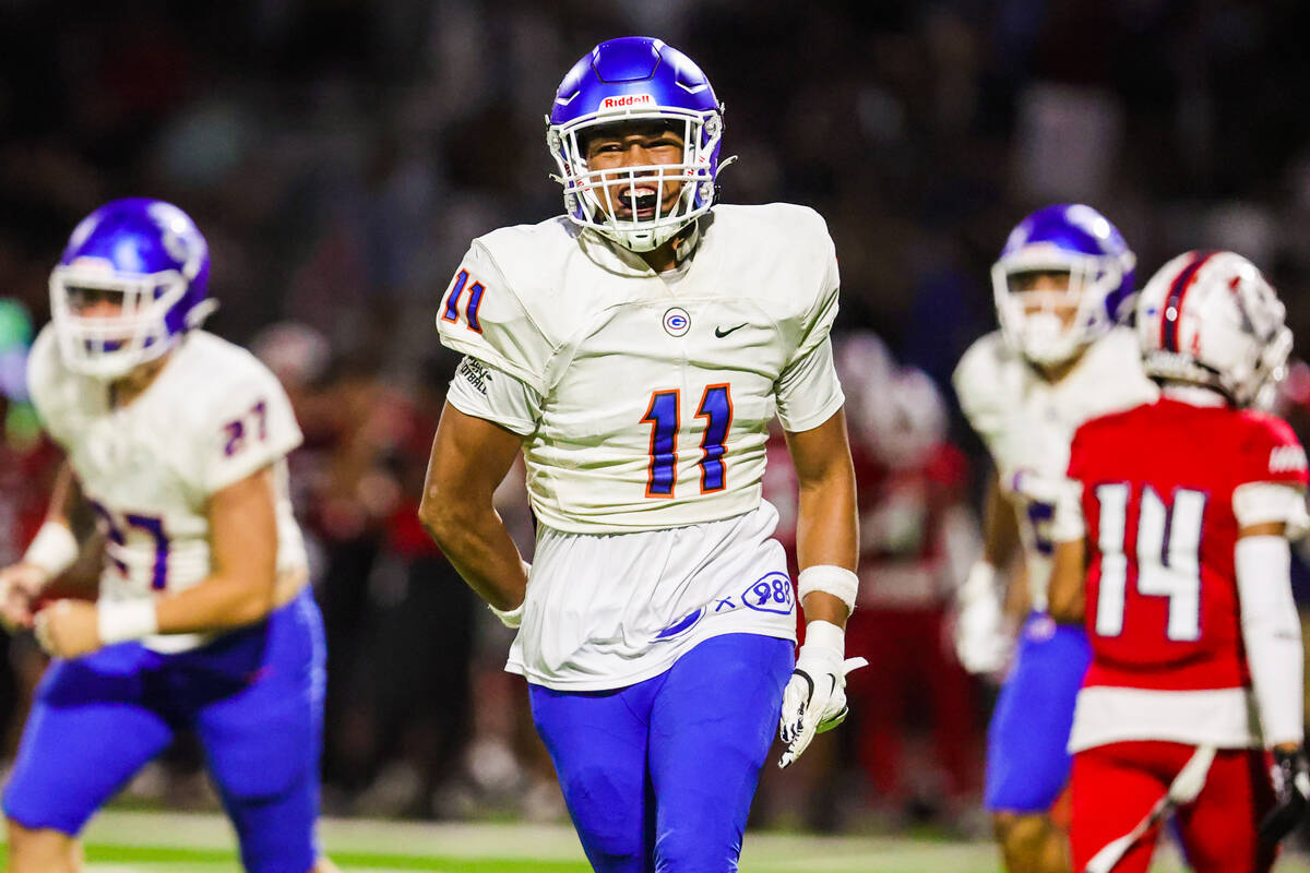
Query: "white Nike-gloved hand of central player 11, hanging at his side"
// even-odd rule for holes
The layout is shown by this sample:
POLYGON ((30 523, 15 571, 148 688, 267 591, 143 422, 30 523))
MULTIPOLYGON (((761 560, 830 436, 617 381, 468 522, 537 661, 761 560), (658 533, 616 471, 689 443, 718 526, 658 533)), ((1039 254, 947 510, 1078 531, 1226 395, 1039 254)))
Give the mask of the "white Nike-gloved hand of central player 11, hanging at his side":
POLYGON ((845 656, 845 631, 829 622, 811 622, 796 668, 782 691, 778 737, 787 743, 778 767, 800 757, 815 734, 832 730, 846 719, 846 674, 867 665, 845 656))

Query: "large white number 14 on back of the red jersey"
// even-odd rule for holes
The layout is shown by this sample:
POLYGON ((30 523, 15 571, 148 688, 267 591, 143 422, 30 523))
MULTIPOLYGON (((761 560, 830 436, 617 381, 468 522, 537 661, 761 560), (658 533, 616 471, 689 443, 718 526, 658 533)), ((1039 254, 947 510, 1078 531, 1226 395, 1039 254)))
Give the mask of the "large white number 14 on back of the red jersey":
MULTIPOLYGON (((1096 597, 1096 633, 1119 636, 1124 630, 1128 593, 1128 483, 1096 486, 1100 504, 1100 593, 1096 597)), ((1137 513, 1137 590, 1169 598, 1170 640, 1193 641, 1201 636, 1201 518, 1205 495, 1189 488, 1174 492, 1166 505, 1150 486, 1142 488, 1137 513)))

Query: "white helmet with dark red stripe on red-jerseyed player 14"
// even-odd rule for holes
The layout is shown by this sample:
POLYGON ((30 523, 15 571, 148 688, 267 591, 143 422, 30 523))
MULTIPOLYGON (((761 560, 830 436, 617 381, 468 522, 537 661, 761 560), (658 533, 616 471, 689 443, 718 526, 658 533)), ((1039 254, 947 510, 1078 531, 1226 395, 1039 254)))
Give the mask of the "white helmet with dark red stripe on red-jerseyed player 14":
POLYGON ((1263 406, 1282 378, 1292 331, 1282 301, 1233 251, 1188 251, 1151 276, 1137 298, 1146 373, 1263 406))

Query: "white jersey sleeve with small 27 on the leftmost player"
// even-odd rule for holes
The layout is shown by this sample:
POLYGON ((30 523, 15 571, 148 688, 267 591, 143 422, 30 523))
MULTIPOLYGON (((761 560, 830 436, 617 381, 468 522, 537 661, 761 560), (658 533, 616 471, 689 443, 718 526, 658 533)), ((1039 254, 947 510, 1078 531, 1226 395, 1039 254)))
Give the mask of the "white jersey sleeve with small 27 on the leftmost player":
POLYGON ((195 470, 203 493, 215 493, 288 455, 303 441, 282 383, 253 356, 231 373, 221 401, 196 424, 195 470))

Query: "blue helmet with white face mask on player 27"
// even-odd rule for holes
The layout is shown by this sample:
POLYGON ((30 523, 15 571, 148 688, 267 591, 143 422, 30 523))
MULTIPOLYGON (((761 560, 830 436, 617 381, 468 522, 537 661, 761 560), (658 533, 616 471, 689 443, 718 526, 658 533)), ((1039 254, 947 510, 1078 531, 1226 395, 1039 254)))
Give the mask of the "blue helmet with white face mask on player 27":
POLYGON ((50 313, 64 364, 118 378, 199 327, 210 247, 172 203, 113 200, 81 220, 50 274, 50 313))

